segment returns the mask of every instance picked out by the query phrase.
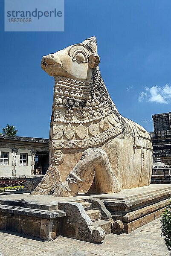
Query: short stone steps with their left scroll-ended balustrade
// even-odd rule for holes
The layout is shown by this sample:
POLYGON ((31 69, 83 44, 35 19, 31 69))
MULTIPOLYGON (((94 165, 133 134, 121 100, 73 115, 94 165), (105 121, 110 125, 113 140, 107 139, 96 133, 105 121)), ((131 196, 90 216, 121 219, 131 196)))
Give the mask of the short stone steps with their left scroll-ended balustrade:
MULTIPOLYGON (((90 209, 85 211, 81 203, 58 203, 58 207, 66 212, 66 217, 63 219, 61 226, 61 234, 84 241, 102 241, 105 237, 105 231, 102 227, 98 226, 97 222, 96 227, 93 225, 94 221, 101 220, 101 209, 90 209)), ((86 205, 84 204, 84 206, 86 205)), ((106 227, 106 225, 104 226, 106 227)))

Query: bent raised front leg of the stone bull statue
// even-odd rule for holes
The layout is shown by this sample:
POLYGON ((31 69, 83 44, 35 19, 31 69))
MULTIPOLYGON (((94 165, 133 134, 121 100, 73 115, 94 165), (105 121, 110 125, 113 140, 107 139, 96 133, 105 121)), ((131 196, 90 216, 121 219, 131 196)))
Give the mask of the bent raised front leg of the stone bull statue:
POLYGON ((115 193, 120 191, 119 182, 113 174, 105 151, 100 148, 89 148, 84 151, 67 180, 55 190, 54 196, 76 196, 93 169, 95 169, 97 192, 115 193))

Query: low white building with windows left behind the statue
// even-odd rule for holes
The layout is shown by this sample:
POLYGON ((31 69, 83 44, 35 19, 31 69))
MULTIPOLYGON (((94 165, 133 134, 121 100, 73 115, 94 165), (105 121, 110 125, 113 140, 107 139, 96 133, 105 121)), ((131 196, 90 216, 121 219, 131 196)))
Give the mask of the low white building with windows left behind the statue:
POLYGON ((48 139, 0 135, 0 177, 43 175, 48 166, 48 139))

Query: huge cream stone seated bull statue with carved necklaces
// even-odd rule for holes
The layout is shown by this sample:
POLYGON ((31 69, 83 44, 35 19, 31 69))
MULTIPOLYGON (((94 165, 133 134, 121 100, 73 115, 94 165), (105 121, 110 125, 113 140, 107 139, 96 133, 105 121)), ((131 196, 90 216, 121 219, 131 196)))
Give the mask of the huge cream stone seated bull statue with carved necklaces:
POLYGON ((76 196, 90 187, 114 193, 150 184, 151 138, 119 114, 99 62, 95 37, 43 56, 42 69, 55 79, 51 163, 32 195, 76 196))

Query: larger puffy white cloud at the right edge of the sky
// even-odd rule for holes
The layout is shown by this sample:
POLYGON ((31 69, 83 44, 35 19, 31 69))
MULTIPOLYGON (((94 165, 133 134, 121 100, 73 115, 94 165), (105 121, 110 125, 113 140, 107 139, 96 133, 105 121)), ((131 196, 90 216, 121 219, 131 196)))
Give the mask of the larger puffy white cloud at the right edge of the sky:
POLYGON ((148 102, 157 102, 160 104, 168 104, 171 100, 171 86, 168 84, 163 87, 152 86, 145 87, 146 92, 139 93, 138 101, 146 100, 148 102))

